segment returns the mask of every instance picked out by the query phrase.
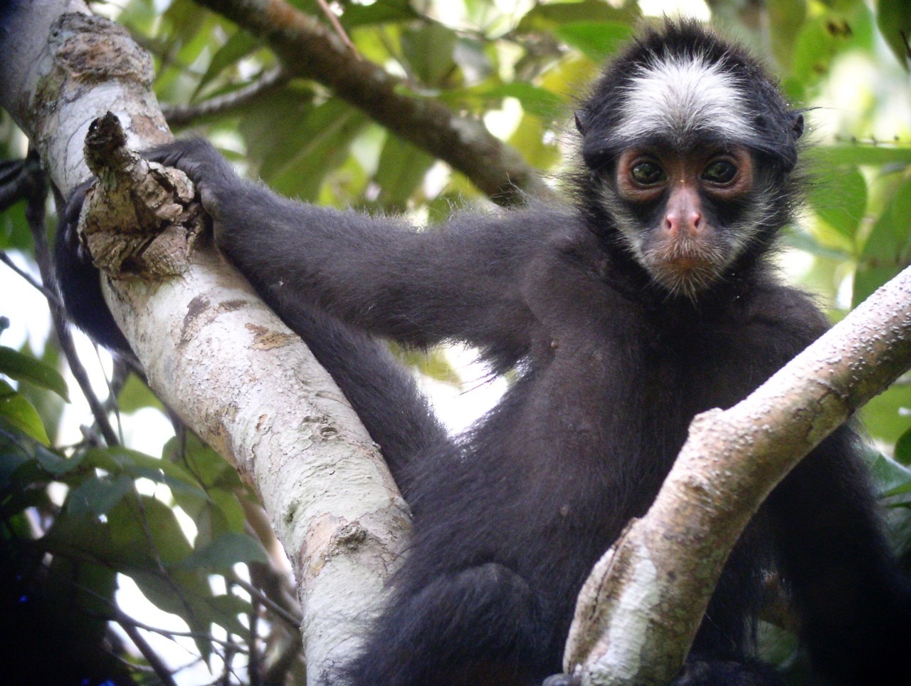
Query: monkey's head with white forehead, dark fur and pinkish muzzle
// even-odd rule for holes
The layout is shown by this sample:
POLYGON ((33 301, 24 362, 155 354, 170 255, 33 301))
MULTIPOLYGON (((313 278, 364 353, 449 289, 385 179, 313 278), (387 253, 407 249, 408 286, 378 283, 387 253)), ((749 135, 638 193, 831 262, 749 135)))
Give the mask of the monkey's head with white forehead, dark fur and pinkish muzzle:
POLYGON ((671 295, 696 300, 762 259, 799 200, 803 117, 754 60, 695 26, 647 32, 576 124, 592 230, 671 295))

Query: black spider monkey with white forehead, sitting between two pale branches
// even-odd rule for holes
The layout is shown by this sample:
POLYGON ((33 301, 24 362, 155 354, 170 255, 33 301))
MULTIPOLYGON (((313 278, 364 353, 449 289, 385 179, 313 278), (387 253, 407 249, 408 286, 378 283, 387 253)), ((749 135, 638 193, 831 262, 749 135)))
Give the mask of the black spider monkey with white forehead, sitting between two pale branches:
MULTIPOLYGON (((692 417, 742 400, 827 327, 770 265, 800 199, 804 121, 754 59, 666 22, 608 65, 576 124, 570 202, 425 231, 281 198, 201 140, 149 153, 197 184, 220 250, 349 394, 413 508, 410 552, 340 682, 558 672, 579 587, 646 512, 692 417), (464 341, 517 380, 452 440, 373 336, 464 341)), ((68 287, 90 269, 79 203, 58 250, 64 294, 77 323, 116 338, 68 287)), ((844 425, 763 504, 678 683, 779 683, 752 659, 770 569, 821 678, 874 683, 904 655, 911 592, 859 452, 844 425)))

